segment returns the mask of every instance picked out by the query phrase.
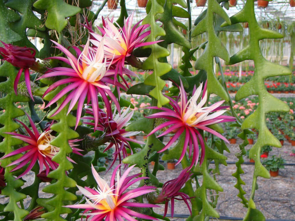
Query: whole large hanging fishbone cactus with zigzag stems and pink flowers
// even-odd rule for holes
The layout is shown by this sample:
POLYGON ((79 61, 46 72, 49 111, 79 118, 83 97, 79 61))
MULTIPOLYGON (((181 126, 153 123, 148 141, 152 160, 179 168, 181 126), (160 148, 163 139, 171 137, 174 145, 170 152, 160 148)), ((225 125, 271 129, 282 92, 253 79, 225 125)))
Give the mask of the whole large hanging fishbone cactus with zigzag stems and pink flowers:
MULTIPOLYGON (((274 98, 264 84, 276 73, 289 74, 261 62, 257 42, 265 35, 254 34, 254 44, 245 48, 256 47, 230 58, 218 34, 241 32, 235 23, 245 21, 227 16, 221 7, 227 1, 208 0, 210 10, 195 24, 190 1, 149 0, 142 18, 127 11, 124 0, 119 18, 109 14, 107 0, 95 11, 93 2, 0 1, 1 220, 169 221, 176 201, 188 220, 218 218, 214 206, 223 189, 209 163, 214 160, 219 171, 219 164, 226 164, 228 139, 236 136, 242 143, 235 187, 248 210, 245 220, 265 220, 253 209, 257 177, 269 177, 258 157, 262 146, 281 146, 267 126, 291 128, 294 120, 294 103, 274 98), (189 18, 188 26, 176 18, 189 18), (194 45, 204 32, 206 43, 194 45), (182 48, 178 66, 168 62, 173 62, 172 43, 182 48), (223 72, 219 58, 230 65, 253 59, 255 72, 242 72, 242 83, 237 82, 237 72, 223 72), (266 115, 276 111, 280 114, 266 115), (274 121, 278 117, 288 123, 274 121), (255 169, 246 199, 240 166, 253 133, 249 129, 259 133, 249 151, 255 169), (176 162, 179 173, 160 175, 162 161, 176 162), (30 179, 34 182, 24 185, 30 179), (210 195, 213 203, 208 189, 216 192, 210 195)), ((246 4, 254 7, 253 0, 246 4)), ((254 11, 247 10, 249 31, 260 30, 254 11)))

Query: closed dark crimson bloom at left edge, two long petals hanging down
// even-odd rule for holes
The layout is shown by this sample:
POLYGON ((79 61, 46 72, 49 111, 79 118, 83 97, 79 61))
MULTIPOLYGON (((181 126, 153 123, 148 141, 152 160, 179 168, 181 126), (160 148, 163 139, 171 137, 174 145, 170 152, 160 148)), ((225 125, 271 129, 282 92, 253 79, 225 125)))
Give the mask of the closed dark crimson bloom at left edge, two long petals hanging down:
POLYGON ((27 85, 28 93, 31 98, 34 100, 32 95, 31 83, 30 83, 30 71, 29 68, 35 65, 36 62, 36 51, 31 47, 19 47, 14 46, 12 44, 4 44, 4 47, 0 47, 0 55, 3 57, 3 60, 8 61, 14 67, 19 67, 19 71, 17 72, 17 76, 14 80, 14 92, 17 95, 17 84, 19 83, 19 79, 22 75, 22 71, 24 70, 24 80, 27 85))

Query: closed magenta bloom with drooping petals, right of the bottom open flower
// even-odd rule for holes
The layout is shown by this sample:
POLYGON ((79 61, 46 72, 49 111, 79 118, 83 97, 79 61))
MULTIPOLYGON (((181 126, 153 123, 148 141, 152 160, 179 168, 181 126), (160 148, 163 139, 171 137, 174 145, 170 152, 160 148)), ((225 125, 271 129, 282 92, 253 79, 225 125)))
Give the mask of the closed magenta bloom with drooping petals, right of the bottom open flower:
POLYGON ((183 200, 189 208, 189 212, 191 213, 191 206, 188 202, 188 200, 190 201, 190 197, 183 192, 179 192, 182 186, 190 179, 191 175, 192 174, 190 173, 189 168, 186 168, 181 171, 180 175, 176 179, 172 179, 164 183, 160 194, 155 198, 155 203, 165 202, 164 217, 167 214, 168 202, 171 200, 171 217, 173 218, 174 199, 183 200))

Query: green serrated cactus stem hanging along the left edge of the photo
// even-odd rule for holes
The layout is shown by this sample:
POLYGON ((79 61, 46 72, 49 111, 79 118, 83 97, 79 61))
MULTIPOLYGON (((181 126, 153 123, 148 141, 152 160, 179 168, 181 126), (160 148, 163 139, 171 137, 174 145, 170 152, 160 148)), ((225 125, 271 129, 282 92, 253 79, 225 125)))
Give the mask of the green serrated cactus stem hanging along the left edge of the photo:
MULTIPOLYGON (((23 143, 21 140, 4 133, 14 132, 20 127, 13 119, 23 116, 24 111, 14 106, 14 103, 27 102, 30 100, 27 97, 15 95, 13 84, 16 75, 16 68, 7 61, 0 66, 0 77, 7 77, 6 81, 0 83, 0 92, 6 94, 4 97, 0 98, 0 107, 5 110, 5 112, 0 115, 0 124, 3 125, 0 128, 0 135, 4 137, 4 140, 0 143, 0 152, 5 154, 11 153, 14 150, 13 146, 23 143)), ((28 214, 28 211, 19 208, 17 205, 20 200, 25 199, 27 196, 15 190, 22 187, 24 182, 20 179, 15 180, 13 173, 9 172, 14 169, 14 165, 7 167, 8 164, 12 163, 12 161, 18 159, 20 156, 21 155, 11 156, 1 160, 1 166, 6 167, 4 176, 7 182, 6 187, 2 190, 2 194, 9 197, 9 202, 5 206, 4 212, 13 212, 14 221, 22 221, 22 218, 28 214)))

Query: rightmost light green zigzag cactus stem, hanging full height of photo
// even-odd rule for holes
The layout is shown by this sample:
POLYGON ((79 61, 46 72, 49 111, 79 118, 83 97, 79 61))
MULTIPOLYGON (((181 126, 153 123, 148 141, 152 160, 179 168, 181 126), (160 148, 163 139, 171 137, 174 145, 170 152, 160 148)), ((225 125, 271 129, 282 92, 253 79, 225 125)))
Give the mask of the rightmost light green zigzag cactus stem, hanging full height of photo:
MULTIPOLYGON (((255 203, 253 201, 257 177, 270 177, 269 172, 262 166, 260 162, 260 150, 261 147, 266 145, 281 147, 278 139, 273 136, 266 126, 266 113, 273 111, 287 112, 289 111, 289 107, 281 100, 275 98, 267 92, 264 85, 264 79, 273 76, 289 75, 291 72, 288 68, 271 63, 263 57, 260 50, 259 41, 265 38, 282 38, 283 35, 275 31, 261 28, 258 25, 254 13, 254 0, 247 0, 244 8, 232 16, 230 20, 232 24, 248 22, 250 40, 247 47, 233 55, 227 65, 232 65, 244 60, 253 60, 255 66, 253 77, 250 81, 243 85, 240 90, 238 90, 235 100, 241 100, 242 98, 248 97, 250 95, 258 95, 259 99, 257 110, 248 116, 242 123, 242 129, 256 128, 259 131, 257 142, 253 145, 249 153, 249 158, 255 160, 255 170, 253 173, 252 191, 248 204, 248 212, 244 218, 244 221, 252 220, 254 216, 256 219, 265 220, 263 214, 256 209, 255 203)), ((225 22, 222 24, 222 27, 226 25, 227 24, 225 22)))

